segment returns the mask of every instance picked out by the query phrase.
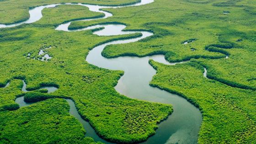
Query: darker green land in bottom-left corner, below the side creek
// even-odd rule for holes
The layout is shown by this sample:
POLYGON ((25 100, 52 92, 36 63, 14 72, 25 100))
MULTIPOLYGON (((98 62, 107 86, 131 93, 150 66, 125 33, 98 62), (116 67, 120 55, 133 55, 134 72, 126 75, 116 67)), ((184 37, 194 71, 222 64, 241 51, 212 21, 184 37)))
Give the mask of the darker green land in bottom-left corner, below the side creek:
POLYGON ((12 144, 93 144, 85 138, 80 122, 69 115, 69 105, 63 99, 0 112, 0 143, 12 144))

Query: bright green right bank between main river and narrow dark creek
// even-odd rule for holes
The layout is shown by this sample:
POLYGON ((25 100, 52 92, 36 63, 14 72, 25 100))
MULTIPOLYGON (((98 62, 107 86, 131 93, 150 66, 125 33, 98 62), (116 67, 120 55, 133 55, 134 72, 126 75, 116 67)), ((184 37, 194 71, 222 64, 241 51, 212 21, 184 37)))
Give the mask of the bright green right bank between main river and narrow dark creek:
POLYGON ((199 144, 256 141, 254 91, 208 80, 203 77, 203 67, 197 63, 167 66, 151 60, 150 64, 157 69, 150 85, 184 96, 200 108, 203 123, 199 144))

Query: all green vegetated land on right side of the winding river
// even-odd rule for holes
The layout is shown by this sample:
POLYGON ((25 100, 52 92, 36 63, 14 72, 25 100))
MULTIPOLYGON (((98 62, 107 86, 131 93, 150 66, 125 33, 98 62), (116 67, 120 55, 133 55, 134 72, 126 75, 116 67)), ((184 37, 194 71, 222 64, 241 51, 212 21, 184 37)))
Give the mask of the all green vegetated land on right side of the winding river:
POLYGON ((160 66, 151 85, 178 93, 200 108, 199 143, 255 143, 254 4, 254 0, 174 0, 171 4, 155 0, 147 6, 107 9, 112 17, 73 22, 70 28, 118 21, 127 30, 154 32, 155 36, 137 43, 107 46, 102 54, 107 58, 164 54, 170 62, 192 59, 184 66, 160 66), (197 40, 182 44, 192 38, 197 40), (203 66, 213 80, 203 78, 203 66))

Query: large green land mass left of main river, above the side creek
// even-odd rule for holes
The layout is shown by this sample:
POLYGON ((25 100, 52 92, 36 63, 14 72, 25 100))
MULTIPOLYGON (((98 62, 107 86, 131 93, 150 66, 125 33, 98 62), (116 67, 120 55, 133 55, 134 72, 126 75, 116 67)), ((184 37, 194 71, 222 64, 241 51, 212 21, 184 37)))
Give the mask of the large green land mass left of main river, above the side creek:
MULTIPOLYGON (((115 91, 114 86, 123 75, 123 71, 101 69, 85 61, 89 50, 100 43, 114 39, 139 37, 141 34, 99 37, 92 34, 93 31, 62 32, 54 30, 56 24, 79 19, 79 16, 74 15, 75 13, 72 11, 73 9, 80 10, 80 8, 80 6, 61 5, 43 10, 45 15, 52 13, 46 19, 43 18, 33 24, 0 29, 0 61, 2 64, 0 72, 3 74, 0 75, 0 84, 4 86, 8 81, 11 82, 8 87, 0 88, 2 115, 7 117, 12 111, 6 110, 16 109, 9 105, 15 105, 14 100, 19 96, 25 96, 25 100, 30 102, 53 97, 71 98, 80 115, 88 120, 96 133, 104 139, 119 143, 146 140, 155 133, 157 124, 171 114, 172 107, 133 100, 120 95, 115 91), (70 10, 69 16, 61 15, 65 8, 70 10), (13 37, 20 38, 14 39, 13 37), (52 56, 52 59, 49 61, 31 59, 38 55, 40 49, 44 48, 48 48, 45 51, 52 56), (31 54, 31 58, 27 57, 28 53, 31 54), (21 91, 21 80, 25 80, 27 90, 31 92, 25 94, 21 91), (56 86, 59 89, 50 94, 45 91, 32 91, 44 85, 56 86), (10 108, 6 108, 7 106, 10 108)), ((88 11, 88 9, 81 11, 88 11)), ((88 13, 90 12, 88 11, 88 13)), ((84 18, 84 15, 81 17, 84 18)), ((45 107, 48 106, 45 105, 45 107)), ((33 107, 29 109, 33 110, 33 107)), ((16 111, 20 111, 20 109, 16 111)), ((42 112, 38 113, 43 114, 42 112)), ((19 113, 15 114, 19 115, 19 113)), ((11 130, 10 128, 4 129, 10 133, 11 130)), ((51 128, 46 130, 47 133, 53 131, 51 128)), ((28 131, 17 131, 17 133, 21 132, 29 133, 28 131)), ((35 131, 34 133, 38 137, 42 135, 38 141, 44 138, 45 131, 35 131)), ((22 138, 22 134, 16 134, 16 136, 19 137, 18 139, 22 138)), ((35 139, 35 137, 31 139, 35 139)), ((63 137, 59 139, 65 140, 63 137)))

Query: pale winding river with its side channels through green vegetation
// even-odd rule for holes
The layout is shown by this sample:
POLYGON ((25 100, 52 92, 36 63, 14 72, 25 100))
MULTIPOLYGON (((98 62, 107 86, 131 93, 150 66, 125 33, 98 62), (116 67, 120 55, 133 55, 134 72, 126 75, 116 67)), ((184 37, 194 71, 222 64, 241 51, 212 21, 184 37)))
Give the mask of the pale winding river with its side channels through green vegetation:
MULTIPOLYGON (((101 8, 120 8, 127 6, 138 6, 145 5, 153 2, 154 0, 141 0, 141 2, 133 5, 124 5, 124 6, 101 6, 101 5, 87 5, 87 4, 53 4, 53 5, 44 5, 38 6, 29 11, 30 18, 27 21, 23 21, 11 25, 0 25, 0 27, 16 27, 23 23, 32 23, 40 20, 42 16, 42 10, 48 7, 55 7, 57 5, 83 5, 89 8, 90 11, 102 12, 105 14, 101 18, 93 19, 84 19, 79 21, 91 21, 95 19, 102 19, 112 16, 111 13, 107 11, 100 10, 101 8)), ((112 35, 123 35, 140 32, 142 33, 141 37, 130 38, 125 40, 117 40, 108 43, 103 43, 95 48, 93 48, 86 57, 86 61, 90 64, 96 65, 105 69, 114 69, 114 70, 123 70, 124 75, 118 80, 117 85, 115 86, 116 91, 120 94, 128 96, 130 98, 167 103, 173 106, 173 113, 165 121, 159 124, 159 128, 156 130, 156 134, 149 137, 144 143, 147 144, 196 144, 197 143, 197 134, 202 123, 202 115, 199 109, 189 103, 186 99, 181 96, 171 94, 169 92, 160 90, 155 87, 149 86, 149 82, 152 77, 156 74, 156 70, 149 65, 149 59, 154 59, 157 62, 163 64, 177 64, 169 63, 165 60, 164 55, 154 55, 146 57, 118 57, 113 59, 107 59, 101 55, 102 50, 110 44, 122 44, 122 43, 133 43, 137 42, 140 39, 145 37, 150 37, 154 33, 147 31, 123 31, 126 27, 122 24, 105 24, 105 25, 95 25, 91 27, 85 27, 77 30, 69 30, 68 27, 72 21, 64 23, 56 27, 56 30, 74 32, 74 31, 84 31, 95 29, 99 27, 104 27, 104 29, 94 32, 94 34, 99 36, 112 36, 112 35)), ((182 63, 182 62, 181 62, 182 63)), ((205 74, 206 75, 206 74, 205 74)), ((23 81, 22 91, 26 91, 26 83, 23 81)), ((48 92, 53 92, 57 90, 53 87, 44 87, 48 89, 48 92)), ((91 128, 90 124, 84 121, 78 114, 75 104, 72 100, 66 99, 70 105, 69 113, 76 117, 84 126, 86 130, 85 136, 92 137, 95 141, 101 141, 103 143, 109 143, 104 139, 101 139, 91 128)), ((30 105, 31 103, 24 102, 23 97, 16 99, 16 102, 22 107, 30 105)))

